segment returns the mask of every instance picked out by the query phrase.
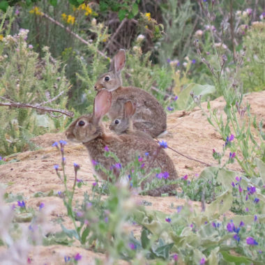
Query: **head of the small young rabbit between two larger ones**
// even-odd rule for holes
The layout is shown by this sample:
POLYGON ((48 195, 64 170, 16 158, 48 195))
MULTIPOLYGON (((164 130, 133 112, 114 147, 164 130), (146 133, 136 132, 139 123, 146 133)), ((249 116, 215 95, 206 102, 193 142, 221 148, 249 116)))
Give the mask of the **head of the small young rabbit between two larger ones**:
POLYGON ((132 130, 132 116, 135 114, 136 105, 137 103, 132 103, 131 100, 127 100, 123 105, 123 115, 113 119, 109 129, 118 135, 125 133, 128 129, 132 130))

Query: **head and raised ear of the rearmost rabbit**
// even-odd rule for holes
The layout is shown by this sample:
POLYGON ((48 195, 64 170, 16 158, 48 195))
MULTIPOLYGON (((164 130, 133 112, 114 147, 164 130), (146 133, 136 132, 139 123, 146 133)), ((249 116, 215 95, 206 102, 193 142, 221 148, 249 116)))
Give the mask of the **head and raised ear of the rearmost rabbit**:
POLYGON ((101 89, 107 89, 108 91, 114 91, 122 86, 121 70, 126 63, 125 50, 119 50, 113 57, 109 66, 109 72, 101 75, 96 82, 94 89, 100 91, 101 89))

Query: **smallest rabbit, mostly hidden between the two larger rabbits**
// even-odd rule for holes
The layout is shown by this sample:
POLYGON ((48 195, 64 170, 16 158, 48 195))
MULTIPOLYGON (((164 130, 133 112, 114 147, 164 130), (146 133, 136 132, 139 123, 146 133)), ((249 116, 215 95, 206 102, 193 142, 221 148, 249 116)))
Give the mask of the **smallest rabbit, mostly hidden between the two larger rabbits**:
POLYGON ((135 110, 136 103, 132 103, 131 100, 127 100, 123 106, 123 115, 113 119, 112 123, 110 123, 109 129, 116 132, 117 135, 135 135, 152 140, 153 138, 151 135, 133 127, 132 116, 135 114, 135 110))

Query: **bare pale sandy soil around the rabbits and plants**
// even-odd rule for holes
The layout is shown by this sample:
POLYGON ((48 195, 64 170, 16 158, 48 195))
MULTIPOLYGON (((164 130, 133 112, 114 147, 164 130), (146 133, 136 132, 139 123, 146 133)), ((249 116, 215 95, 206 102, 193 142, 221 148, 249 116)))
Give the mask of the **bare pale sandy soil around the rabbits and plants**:
MULTIPOLYGON (((244 104, 250 103, 250 113, 257 116, 258 122, 262 119, 265 121, 265 91, 250 93, 243 98, 243 102, 244 104)), ((206 110, 206 103, 203 103, 202 106, 206 110)), ((218 113, 223 114, 223 116, 225 116, 223 113, 224 106, 225 101, 222 98, 211 101, 211 108, 218 109, 218 113)), ((264 124, 263 127, 265 127, 264 124)), ((187 174, 189 179, 196 178, 206 167, 206 164, 217 165, 217 162, 213 159, 212 150, 222 151, 224 141, 198 107, 195 107, 190 112, 177 111, 169 114, 167 116, 167 131, 167 135, 162 137, 162 139, 167 141, 168 146, 172 149, 184 155, 181 156, 172 149, 166 150, 174 161, 179 177, 187 174)), ((0 183, 7 185, 5 192, 12 192, 13 194, 22 193, 26 198, 27 206, 31 206, 34 209, 38 209, 41 202, 45 204, 47 223, 50 224, 47 225, 46 232, 61 230, 60 225, 54 222, 59 217, 63 217, 65 220, 63 224, 66 227, 71 227, 62 199, 55 196, 33 197, 33 194, 36 192, 50 192, 50 190, 58 192, 63 190, 63 184, 56 176, 54 170, 54 165, 60 164, 61 156, 59 151, 55 147, 52 147, 52 144, 60 139, 66 140, 63 132, 56 134, 47 133, 38 136, 32 139, 38 146, 38 150, 16 153, 8 158, 8 163, 0 165, 0 183)), ((77 162, 81 167, 78 172, 78 178, 88 183, 88 185, 83 185, 82 188, 77 189, 75 192, 75 199, 81 200, 85 191, 91 191, 94 181, 88 153, 82 144, 68 142, 65 146, 65 156, 66 174, 71 179, 71 181, 68 181, 69 187, 73 185, 73 162, 77 162)), ((236 163, 232 164, 230 168, 241 170, 236 163)), ((61 172, 61 169, 59 170, 61 172)), ((176 199, 174 196, 137 196, 137 199, 149 202, 150 206, 146 206, 147 209, 154 209, 165 213, 176 212, 176 206, 183 205, 185 202, 184 199, 176 199)), ((193 202, 193 204, 199 205, 199 202, 193 202)), ((95 257, 104 259, 104 255, 78 248, 78 246, 69 248, 63 245, 40 245, 31 246, 30 248, 28 257, 31 259, 31 264, 64 264, 64 256, 73 256, 77 252, 83 256, 82 261, 84 264, 93 264, 95 257)), ((0 257, 3 257, 2 255, 7 253, 6 248, 0 248, 0 257)), ((1 260, 3 259, 0 258, 0 264, 2 264, 1 260)), ((21 264, 25 264, 25 262, 21 264)), ((78 264, 82 264, 82 262, 78 264)))

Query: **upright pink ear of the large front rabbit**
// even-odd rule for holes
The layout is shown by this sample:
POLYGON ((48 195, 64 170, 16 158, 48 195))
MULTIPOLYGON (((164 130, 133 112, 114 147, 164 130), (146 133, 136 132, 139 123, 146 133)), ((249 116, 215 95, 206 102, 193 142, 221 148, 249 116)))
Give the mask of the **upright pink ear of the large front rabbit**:
POLYGON ((94 100, 93 121, 98 123, 107 114, 112 105, 112 93, 106 89, 98 92, 94 100))

